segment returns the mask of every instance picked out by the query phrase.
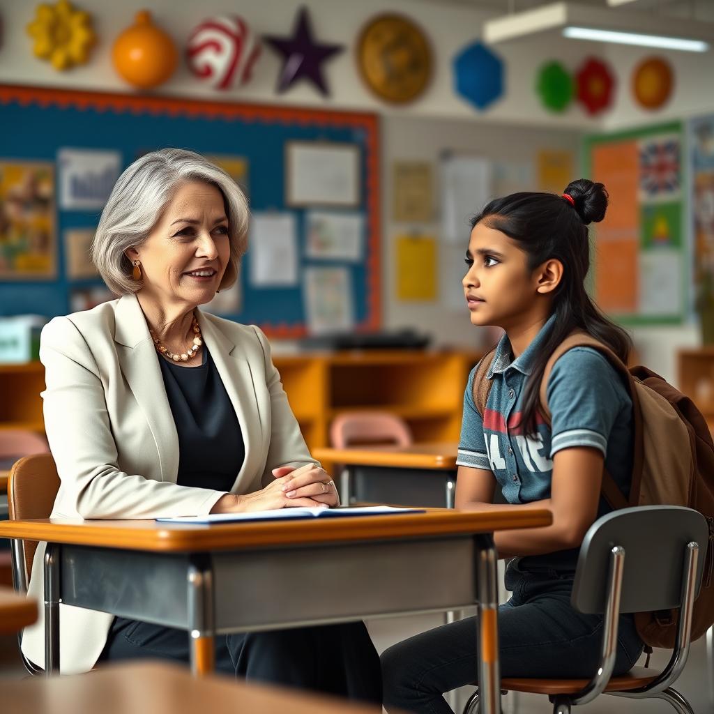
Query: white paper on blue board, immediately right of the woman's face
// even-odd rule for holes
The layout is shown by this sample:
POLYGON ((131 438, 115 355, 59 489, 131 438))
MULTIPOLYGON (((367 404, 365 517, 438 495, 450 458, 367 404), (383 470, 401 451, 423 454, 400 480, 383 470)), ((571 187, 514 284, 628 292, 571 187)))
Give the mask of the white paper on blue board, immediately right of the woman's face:
POLYGON ((253 213, 248 243, 251 283, 255 286, 296 285, 297 242, 293 213, 253 213))

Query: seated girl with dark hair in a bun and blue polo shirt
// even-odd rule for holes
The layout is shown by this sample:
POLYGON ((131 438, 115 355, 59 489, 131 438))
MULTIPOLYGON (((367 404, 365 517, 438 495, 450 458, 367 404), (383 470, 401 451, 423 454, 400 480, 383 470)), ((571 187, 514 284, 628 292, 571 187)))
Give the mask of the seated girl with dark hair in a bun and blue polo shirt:
MULTIPOLYGON (((605 216, 602 183, 573 181, 562 196, 514 193, 471 222, 463 288, 471 323, 503 328, 487 378, 482 416, 471 372, 463 399, 456 508, 548 508, 553 525, 496 533, 511 598, 499 608, 504 677, 590 678, 600 659, 603 619, 570 605, 583 536, 609 508, 600 498, 603 466, 628 495, 633 458, 632 402, 607 358, 578 347, 555 362, 548 379, 551 425, 540 414, 545 363, 573 330, 585 331, 624 362, 627 333, 585 291, 587 226, 605 216), (503 506, 498 506, 503 508, 503 506)), ((605 264, 600 269, 607 270, 605 264)), ((476 618, 443 625, 382 655, 388 710, 448 714, 443 693, 476 683, 476 618)), ((643 651, 631 615, 622 615, 615 674, 643 651)))

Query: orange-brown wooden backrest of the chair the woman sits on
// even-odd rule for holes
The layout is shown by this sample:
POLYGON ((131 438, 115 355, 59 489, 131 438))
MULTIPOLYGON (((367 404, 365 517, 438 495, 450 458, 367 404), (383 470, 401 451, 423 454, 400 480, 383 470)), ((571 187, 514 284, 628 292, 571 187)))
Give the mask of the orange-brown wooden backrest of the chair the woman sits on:
MULTIPOLYGON (((10 471, 7 488, 10 520, 49 518, 59 483, 57 467, 51 454, 39 453, 17 461, 10 471)), ((26 581, 32 572, 36 548, 36 540, 24 541, 24 563, 21 565, 24 565, 26 581)))

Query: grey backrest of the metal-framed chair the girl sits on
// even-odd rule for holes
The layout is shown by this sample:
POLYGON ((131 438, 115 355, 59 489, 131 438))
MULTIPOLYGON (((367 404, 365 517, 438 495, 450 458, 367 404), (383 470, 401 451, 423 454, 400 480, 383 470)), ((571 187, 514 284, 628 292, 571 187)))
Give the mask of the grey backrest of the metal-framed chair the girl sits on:
POLYGON ((625 550, 620 613, 669 610, 682 604, 688 543, 698 543, 695 596, 709 545, 709 526, 683 506, 621 508, 590 526, 580 546, 571 603, 581 613, 604 613, 610 553, 625 550))

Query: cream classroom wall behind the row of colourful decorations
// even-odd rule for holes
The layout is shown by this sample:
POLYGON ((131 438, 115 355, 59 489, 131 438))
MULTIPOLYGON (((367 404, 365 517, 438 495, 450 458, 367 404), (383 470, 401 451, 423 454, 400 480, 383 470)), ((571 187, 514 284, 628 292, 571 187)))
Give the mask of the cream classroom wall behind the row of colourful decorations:
MULTIPOLYGON (((714 71, 714 54, 704 56, 670 52, 677 85, 669 105, 656 114, 638 109, 630 98, 628 77, 635 64, 648 54, 647 49, 603 46, 595 43, 568 41, 558 38, 533 39, 499 46, 507 67, 507 96, 488 111, 478 112, 461 100, 451 86, 450 64, 454 54, 478 38, 483 19, 493 12, 473 9, 458 3, 435 3, 420 0, 392 0, 385 5, 380 0, 361 3, 336 0, 243 0, 237 11, 251 22, 260 34, 290 34, 296 10, 301 5, 311 9, 313 30, 318 39, 342 42, 346 51, 326 65, 332 96, 325 100, 306 84, 296 86, 286 94, 274 92, 281 66, 276 54, 265 47, 256 65, 251 84, 226 93, 203 86, 191 76, 183 64, 174 77, 157 94, 196 96, 263 103, 323 106, 328 108, 376 111, 383 116, 383 319, 388 328, 411 325, 433 335, 438 343, 471 344, 480 340, 478 332, 468 330, 466 311, 460 313, 437 303, 401 303, 395 298, 393 238, 403 228, 391 221, 391 164, 393 159, 428 159, 438 164, 444 149, 483 152, 496 159, 520 159, 533 156, 539 148, 563 146, 578 149, 578 137, 593 131, 642 126, 664 119, 694 116, 714 110, 710 94, 702 91, 701 80, 714 71), (338 11, 337 11, 338 8, 338 11), (357 29, 373 14, 385 10, 402 11, 428 32, 435 54, 435 74, 428 91, 413 104, 392 107, 374 98, 363 86, 353 66, 357 29), (585 56, 599 54, 615 67, 619 82, 613 109, 601 119, 589 119, 578 107, 562 116, 549 114, 533 91, 533 71, 545 59, 560 59, 566 66, 577 66, 585 56), (527 125, 527 126, 526 126, 527 125), (466 325, 466 330, 464 326, 466 325)), ((116 75, 111 66, 110 49, 119 30, 131 24, 134 13, 149 6, 157 23, 174 36, 182 46, 193 26, 206 15, 201 4, 191 0, 84 0, 85 9, 94 12, 99 43, 91 64, 65 73, 51 69, 31 55, 31 42, 22 31, 34 15, 34 4, 0 0, 4 19, 4 37, 0 45, 0 82, 64 86, 109 91, 129 91, 131 88, 116 75)), ((211 14, 236 12, 232 0, 215 0, 211 14)), ((666 11, 686 13, 682 4, 666 11)), ((705 19, 714 15, 714 4, 699 2, 697 12, 705 19)), ((438 179, 438 174, 435 174, 438 179)), ((438 192, 437 192, 438 193, 438 192)), ((437 196, 438 198, 438 196, 437 196)), ((475 206, 476 208, 476 206, 475 206)), ((438 231, 438 223, 422 226, 421 230, 438 231)), ((448 266, 461 259, 445 246, 440 248, 440 291, 443 293, 453 273, 448 266)), ((688 323, 681 327, 635 328, 643 361, 675 379, 675 351, 682 346, 698 344, 698 326, 688 323)))

